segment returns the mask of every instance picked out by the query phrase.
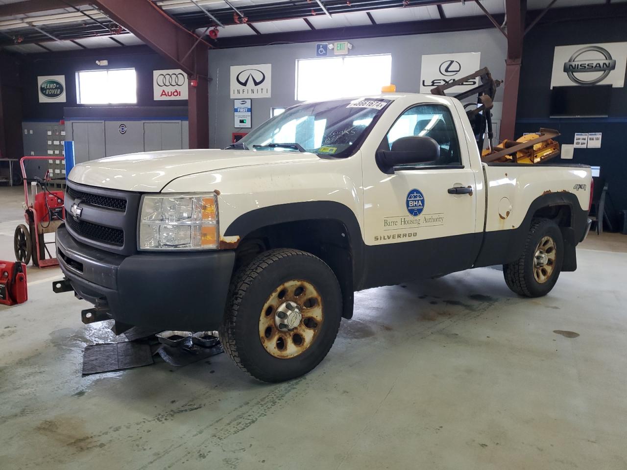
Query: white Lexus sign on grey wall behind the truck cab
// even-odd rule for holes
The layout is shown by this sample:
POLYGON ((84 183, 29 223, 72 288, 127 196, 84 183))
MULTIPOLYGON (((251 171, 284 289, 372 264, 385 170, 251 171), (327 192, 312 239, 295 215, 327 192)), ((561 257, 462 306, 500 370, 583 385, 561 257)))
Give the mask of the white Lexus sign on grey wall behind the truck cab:
MULTIPOLYGON (((429 93, 431 88, 446 85, 479 70, 480 57, 481 54, 478 52, 424 55, 420 68, 420 93, 429 93)), ((478 85, 477 80, 471 78, 446 92, 460 93, 470 90, 478 85)))

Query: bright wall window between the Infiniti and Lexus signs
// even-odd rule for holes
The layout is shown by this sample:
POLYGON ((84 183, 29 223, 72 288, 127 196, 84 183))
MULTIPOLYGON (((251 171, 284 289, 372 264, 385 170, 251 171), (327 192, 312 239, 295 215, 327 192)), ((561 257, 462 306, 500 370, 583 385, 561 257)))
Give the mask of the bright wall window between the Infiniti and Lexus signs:
POLYGON ((331 57, 296 61, 298 101, 377 95, 389 85, 392 55, 331 57))

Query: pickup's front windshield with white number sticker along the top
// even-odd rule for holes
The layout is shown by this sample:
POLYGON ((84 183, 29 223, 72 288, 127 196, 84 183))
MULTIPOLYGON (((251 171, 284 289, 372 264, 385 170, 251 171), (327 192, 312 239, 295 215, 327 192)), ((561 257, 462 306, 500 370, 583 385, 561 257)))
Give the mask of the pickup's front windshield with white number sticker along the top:
POLYGON ((231 147, 346 157, 390 102, 372 98, 305 103, 271 118, 231 147))

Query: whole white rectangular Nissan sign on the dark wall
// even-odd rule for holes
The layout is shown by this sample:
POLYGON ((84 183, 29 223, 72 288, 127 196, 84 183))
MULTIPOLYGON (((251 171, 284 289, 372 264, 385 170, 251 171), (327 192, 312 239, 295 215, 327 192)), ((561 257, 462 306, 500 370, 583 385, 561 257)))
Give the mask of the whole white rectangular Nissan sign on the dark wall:
POLYGON ((624 86, 627 43, 557 46, 553 55, 554 86, 624 86))

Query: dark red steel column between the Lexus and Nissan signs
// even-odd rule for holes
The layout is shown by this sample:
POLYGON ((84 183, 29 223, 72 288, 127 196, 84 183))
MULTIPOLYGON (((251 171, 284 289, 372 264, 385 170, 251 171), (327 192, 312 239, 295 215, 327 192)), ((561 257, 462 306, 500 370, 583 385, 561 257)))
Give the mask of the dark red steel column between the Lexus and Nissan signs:
POLYGON ((514 139, 516 108, 522 60, 527 0, 505 0, 507 13, 507 58, 505 59, 505 89, 503 90, 503 115, 499 139, 514 139))

